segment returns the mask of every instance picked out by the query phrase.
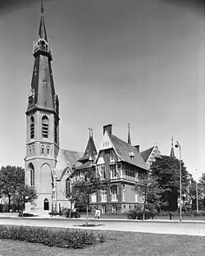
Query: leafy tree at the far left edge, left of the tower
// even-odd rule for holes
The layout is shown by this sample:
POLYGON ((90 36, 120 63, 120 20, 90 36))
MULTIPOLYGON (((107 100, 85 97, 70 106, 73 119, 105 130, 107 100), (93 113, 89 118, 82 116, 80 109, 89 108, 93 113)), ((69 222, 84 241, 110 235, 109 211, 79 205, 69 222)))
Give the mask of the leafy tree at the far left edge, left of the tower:
POLYGON ((18 186, 25 184, 25 170, 22 167, 7 166, 0 170, 0 193, 7 196, 8 211, 11 208, 11 197, 18 186))

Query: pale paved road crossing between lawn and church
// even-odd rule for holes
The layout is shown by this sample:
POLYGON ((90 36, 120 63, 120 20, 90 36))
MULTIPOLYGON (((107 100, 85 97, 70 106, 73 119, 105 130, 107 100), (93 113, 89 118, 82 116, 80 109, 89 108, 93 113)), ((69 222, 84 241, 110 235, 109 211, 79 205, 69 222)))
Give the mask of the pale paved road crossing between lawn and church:
MULTIPOLYGON (((92 222, 92 221, 91 221, 92 222)), ((29 219, 29 218, 0 218, 0 225, 23 225, 23 226, 48 226, 48 227, 69 227, 80 228, 85 227, 75 226, 84 223, 84 220, 57 220, 57 219, 29 219)), ((134 231, 157 234, 177 234, 177 235, 201 235, 205 236, 205 225, 203 223, 159 223, 159 222, 100 222, 102 226, 89 227, 93 230, 107 231, 134 231)))

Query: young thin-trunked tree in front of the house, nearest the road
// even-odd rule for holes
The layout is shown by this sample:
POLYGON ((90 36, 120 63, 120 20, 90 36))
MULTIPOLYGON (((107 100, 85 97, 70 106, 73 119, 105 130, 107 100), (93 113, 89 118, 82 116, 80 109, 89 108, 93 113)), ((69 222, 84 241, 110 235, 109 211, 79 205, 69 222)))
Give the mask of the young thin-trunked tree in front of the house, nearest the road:
POLYGON ((109 181, 102 181, 100 177, 96 176, 96 173, 92 170, 89 170, 84 179, 75 181, 72 185, 72 194, 81 202, 84 202, 86 205, 86 222, 85 226, 88 226, 89 222, 89 197, 91 194, 96 193, 98 190, 106 190, 109 185, 109 181))

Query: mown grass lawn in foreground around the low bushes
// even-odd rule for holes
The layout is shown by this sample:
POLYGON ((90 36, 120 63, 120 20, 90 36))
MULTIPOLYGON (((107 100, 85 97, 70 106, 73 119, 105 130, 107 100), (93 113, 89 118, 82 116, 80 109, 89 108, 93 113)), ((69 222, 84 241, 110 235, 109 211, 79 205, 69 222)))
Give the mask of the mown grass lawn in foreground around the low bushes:
POLYGON ((16 240, 1 240, 0 256, 203 256, 204 237, 157 235, 121 231, 93 231, 107 236, 106 242, 86 249, 61 249, 16 240))

